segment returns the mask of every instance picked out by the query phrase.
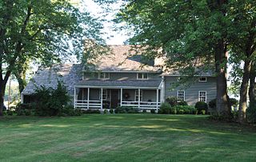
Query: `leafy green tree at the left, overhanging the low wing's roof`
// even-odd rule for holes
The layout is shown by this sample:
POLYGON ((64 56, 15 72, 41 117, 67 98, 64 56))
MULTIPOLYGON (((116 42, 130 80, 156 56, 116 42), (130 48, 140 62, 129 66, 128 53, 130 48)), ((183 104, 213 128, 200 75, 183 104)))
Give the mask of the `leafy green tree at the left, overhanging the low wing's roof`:
POLYGON ((67 0, 0 2, 0 115, 6 82, 26 61, 51 65, 70 54, 82 57, 85 38, 103 42, 102 24, 67 0))

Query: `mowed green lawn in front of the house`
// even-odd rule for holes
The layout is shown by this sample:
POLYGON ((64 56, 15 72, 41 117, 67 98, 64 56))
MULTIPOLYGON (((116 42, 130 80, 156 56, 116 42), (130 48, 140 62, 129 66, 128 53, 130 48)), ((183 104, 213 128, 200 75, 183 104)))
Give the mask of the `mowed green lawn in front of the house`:
POLYGON ((2 161, 255 161, 256 130, 206 116, 0 119, 2 161))

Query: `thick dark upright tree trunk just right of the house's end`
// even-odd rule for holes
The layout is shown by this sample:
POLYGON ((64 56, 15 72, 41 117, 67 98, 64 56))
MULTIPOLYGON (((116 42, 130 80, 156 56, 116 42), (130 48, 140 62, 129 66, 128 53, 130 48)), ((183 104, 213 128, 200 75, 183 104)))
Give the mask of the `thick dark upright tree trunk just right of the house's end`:
POLYGON ((231 113, 231 106, 230 98, 227 94, 226 62, 227 53, 225 45, 223 40, 220 40, 218 41, 218 45, 215 48, 215 68, 217 73, 216 109, 218 115, 229 118, 231 113))

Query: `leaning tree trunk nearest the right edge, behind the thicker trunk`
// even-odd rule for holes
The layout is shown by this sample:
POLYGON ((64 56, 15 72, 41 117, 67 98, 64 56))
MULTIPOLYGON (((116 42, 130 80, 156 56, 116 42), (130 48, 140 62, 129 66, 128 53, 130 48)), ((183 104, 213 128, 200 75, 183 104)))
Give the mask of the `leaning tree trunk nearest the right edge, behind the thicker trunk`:
POLYGON ((240 101, 239 101, 239 115, 238 121, 243 122, 246 120, 247 109, 247 93, 250 79, 251 61, 246 60, 243 68, 242 84, 240 87, 240 101))

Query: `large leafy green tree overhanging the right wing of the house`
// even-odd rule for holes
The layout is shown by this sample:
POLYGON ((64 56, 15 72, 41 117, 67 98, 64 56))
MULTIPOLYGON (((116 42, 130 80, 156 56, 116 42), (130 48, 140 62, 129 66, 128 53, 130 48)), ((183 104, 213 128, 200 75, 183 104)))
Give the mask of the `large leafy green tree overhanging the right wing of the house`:
POLYGON ((128 1, 118 14, 133 30, 131 44, 140 44, 148 57, 166 55, 166 66, 180 73, 209 73, 217 78, 217 110, 230 116, 226 84, 229 22, 227 1, 128 1), (214 66, 214 68, 213 68, 214 66))

